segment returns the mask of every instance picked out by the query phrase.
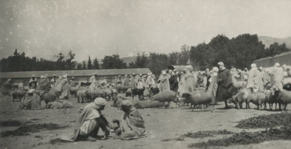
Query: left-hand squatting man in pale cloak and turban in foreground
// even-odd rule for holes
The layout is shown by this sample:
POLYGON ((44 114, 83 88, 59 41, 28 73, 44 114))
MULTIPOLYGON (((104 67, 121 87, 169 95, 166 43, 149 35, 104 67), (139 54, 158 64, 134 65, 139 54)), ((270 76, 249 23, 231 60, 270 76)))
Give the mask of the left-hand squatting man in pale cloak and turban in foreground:
POLYGON ((81 116, 77 121, 74 130, 74 137, 72 139, 63 139, 65 141, 96 141, 99 128, 105 134, 105 139, 109 136, 109 130, 107 129, 108 121, 102 116, 101 110, 104 109, 106 100, 103 98, 96 98, 94 103, 87 104, 81 109, 81 116))

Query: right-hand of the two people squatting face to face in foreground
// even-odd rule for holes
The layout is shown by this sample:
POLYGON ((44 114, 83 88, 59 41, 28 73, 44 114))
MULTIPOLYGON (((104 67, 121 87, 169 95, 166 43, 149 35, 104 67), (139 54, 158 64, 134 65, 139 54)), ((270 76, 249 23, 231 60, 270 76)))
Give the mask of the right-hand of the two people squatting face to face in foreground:
MULTIPOLYGON (((119 125, 120 131, 116 133, 122 140, 138 139, 146 137, 145 120, 129 100, 125 100, 121 104, 124 112, 121 120, 114 119, 113 122, 119 125)), ((117 137, 117 138, 118 138, 117 137)))

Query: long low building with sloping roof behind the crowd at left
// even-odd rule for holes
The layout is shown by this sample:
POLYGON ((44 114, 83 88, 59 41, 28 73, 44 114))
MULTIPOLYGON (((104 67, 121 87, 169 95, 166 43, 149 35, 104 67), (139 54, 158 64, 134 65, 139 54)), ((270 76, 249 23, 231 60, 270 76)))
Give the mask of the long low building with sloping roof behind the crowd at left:
POLYGON ((1 82, 5 82, 8 78, 12 79, 12 83, 18 85, 19 89, 28 89, 28 82, 32 75, 35 75, 37 79, 41 75, 48 75, 49 79, 52 78, 52 75, 65 75, 68 74, 69 78, 74 77, 79 84, 81 82, 89 82, 89 78, 97 73, 97 79, 101 83, 104 77, 107 77, 108 83, 111 83, 114 79, 114 76, 121 75, 121 78, 124 79, 125 75, 131 74, 142 74, 146 75, 151 73, 148 68, 136 68, 136 69, 99 69, 99 70, 66 70, 66 71, 31 71, 31 72, 5 72, 0 73, 1 82))

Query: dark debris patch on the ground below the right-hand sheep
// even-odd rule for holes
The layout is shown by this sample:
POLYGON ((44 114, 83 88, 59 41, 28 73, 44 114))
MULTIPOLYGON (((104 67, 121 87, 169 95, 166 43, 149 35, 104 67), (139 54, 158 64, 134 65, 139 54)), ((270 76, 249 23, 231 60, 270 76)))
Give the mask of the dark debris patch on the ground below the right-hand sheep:
POLYGON ((273 128, 283 125, 285 118, 291 117, 291 113, 282 112, 270 115, 260 115, 239 121, 236 125, 242 129, 273 128))

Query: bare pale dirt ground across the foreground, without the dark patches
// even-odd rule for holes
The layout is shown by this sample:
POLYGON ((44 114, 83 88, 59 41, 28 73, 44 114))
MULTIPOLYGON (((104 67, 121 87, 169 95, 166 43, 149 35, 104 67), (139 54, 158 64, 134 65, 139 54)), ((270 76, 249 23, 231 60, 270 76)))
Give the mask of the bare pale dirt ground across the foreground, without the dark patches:
MULTIPOLYGON (((124 96, 124 94, 121 94, 124 96)), ((252 116, 261 114, 272 114, 278 111, 256 110, 254 104, 250 104, 252 109, 234 109, 234 105, 230 104, 231 109, 224 109, 224 103, 211 106, 207 109, 190 109, 183 108, 147 108, 139 109, 146 121, 147 137, 137 140, 124 141, 120 139, 110 138, 108 140, 97 140, 96 142, 74 142, 74 143, 57 143, 51 144, 50 140, 60 138, 62 136, 71 136, 73 134, 73 126, 79 116, 79 108, 86 104, 77 103, 76 98, 69 99, 74 107, 69 109, 43 109, 43 110, 18 110, 19 102, 12 102, 12 97, 2 97, 0 99, 0 121, 23 120, 32 121, 32 123, 56 123, 62 126, 70 127, 52 131, 41 131, 38 133, 30 133, 25 136, 8 136, 0 137, 0 149, 186 149, 190 143, 207 141, 209 139, 217 139, 229 136, 215 135, 206 138, 185 138, 184 141, 164 139, 178 138, 182 134, 188 132, 199 131, 218 131, 228 130, 234 133, 242 132, 243 129, 234 127, 237 122, 252 116), (34 120, 32 120, 34 119, 34 120)), ((44 103, 42 103, 43 105, 44 103)), ((111 107, 111 102, 102 111, 102 114, 111 121, 119 119, 123 112, 111 107)), ((244 104, 243 104, 244 106, 244 104)), ((291 109, 291 105, 287 107, 291 109)), ((15 130, 17 127, 0 127, 0 132, 15 130)), ((244 131, 259 131, 262 129, 246 129, 244 131)), ((103 135, 99 131, 99 135, 103 135)), ((239 145, 230 147, 214 147, 227 149, 290 149, 291 141, 265 141, 259 144, 239 145)))

